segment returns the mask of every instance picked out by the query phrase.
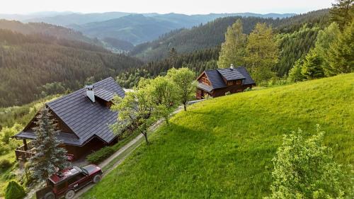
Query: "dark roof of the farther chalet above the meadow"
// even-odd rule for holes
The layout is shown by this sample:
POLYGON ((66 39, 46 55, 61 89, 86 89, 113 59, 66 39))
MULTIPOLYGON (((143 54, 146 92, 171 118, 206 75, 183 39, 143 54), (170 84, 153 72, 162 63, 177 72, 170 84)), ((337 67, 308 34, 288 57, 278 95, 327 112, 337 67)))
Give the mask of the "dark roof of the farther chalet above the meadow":
POLYGON ((227 81, 242 79, 244 80, 244 84, 256 84, 245 67, 236 67, 234 69, 227 68, 206 70, 205 74, 207 75, 211 86, 198 84, 198 88, 208 92, 212 91, 213 89, 221 89, 227 87, 224 80, 222 79, 223 77, 227 79, 227 81))

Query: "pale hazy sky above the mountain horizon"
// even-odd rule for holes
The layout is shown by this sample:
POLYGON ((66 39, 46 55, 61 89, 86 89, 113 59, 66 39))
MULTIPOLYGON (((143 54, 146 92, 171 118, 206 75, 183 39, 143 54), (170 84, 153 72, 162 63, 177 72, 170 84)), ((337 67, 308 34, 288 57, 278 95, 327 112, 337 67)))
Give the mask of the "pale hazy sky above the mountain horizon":
POLYGON ((122 11, 134 13, 305 13, 334 0, 0 0, 0 13, 122 11))

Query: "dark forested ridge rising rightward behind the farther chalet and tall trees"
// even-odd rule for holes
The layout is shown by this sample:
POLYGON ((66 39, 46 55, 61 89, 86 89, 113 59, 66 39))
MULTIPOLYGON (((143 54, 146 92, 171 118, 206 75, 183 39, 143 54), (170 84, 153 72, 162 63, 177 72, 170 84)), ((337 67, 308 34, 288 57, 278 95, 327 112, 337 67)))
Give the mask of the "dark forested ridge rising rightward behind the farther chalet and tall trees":
POLYGON ((249 34, 256 23, 267 23, 273 26, 278 33, 291 33, 299 30, 304 24, 309 27, 316 24, 325 26, 329 23, 329 10, 312 11, 290 18, 257 18, 230 16, 217 18, 205 25, 199 25, 191 29, 173 30, 158 40, 137 45, 130 55, 139 57, 145 61, 161 59, 168 55, 172 47, 178 53, 200 50, 205 47, 214 47, 224 42, 224 33, 229 25, 241 18, 244 33, 249 34))

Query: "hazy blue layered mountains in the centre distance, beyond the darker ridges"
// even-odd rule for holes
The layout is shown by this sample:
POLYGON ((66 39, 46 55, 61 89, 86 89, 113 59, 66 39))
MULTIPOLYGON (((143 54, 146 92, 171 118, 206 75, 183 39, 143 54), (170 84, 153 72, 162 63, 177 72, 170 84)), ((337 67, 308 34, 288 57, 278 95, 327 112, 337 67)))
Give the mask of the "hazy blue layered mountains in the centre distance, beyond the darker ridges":
MULTIPOLYGON (((178 13, 167 14, 131 14, 112 18, 107 21, 96 21, 85 24, 72 24, 70 28, 97 38, 115 38, 126 40, 137 45, 158 38, 164 33, 177 28, 191 28, 200 23, 213 21, 215 18, 226 16, 258 16, 262 18, 278 17, 284 18, 294 14, 256 14, 256 13, 212 13, 207 15, 185 15, 178 13)), ((46 21, 47 22, 47 21, 46 21)))

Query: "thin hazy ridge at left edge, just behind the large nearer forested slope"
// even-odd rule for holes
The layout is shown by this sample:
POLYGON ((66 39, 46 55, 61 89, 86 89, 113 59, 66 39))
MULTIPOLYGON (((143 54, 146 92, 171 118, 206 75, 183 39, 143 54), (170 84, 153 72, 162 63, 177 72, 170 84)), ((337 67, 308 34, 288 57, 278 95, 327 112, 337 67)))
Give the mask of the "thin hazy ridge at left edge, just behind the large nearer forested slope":
POLYGON ((98 45, 100 44, 98 41, 94 41, 91 38, 86 37, 79 31, 48 23, 21 23, 20 21, 8 21, 1 19, 0 29, 12 30, 14 32, 22 33, 25 35, 51 35, 55 38, 61 38, 66 40, 78 40, 81 42, 89 42, 91 44, 98 45))

